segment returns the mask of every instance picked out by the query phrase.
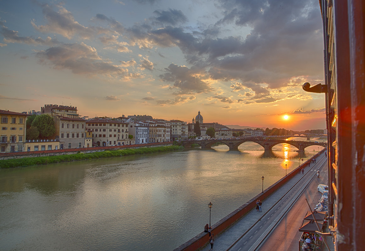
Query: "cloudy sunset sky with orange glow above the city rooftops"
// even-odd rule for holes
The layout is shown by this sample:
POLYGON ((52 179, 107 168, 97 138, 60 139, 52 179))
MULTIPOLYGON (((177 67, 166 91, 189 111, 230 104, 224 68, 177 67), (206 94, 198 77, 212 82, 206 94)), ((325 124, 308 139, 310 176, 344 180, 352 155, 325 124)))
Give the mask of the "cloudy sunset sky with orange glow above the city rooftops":
POLYGON ((324 83, 318 0, 0 0, 0 109, 325 129, 305 82, 324 83))

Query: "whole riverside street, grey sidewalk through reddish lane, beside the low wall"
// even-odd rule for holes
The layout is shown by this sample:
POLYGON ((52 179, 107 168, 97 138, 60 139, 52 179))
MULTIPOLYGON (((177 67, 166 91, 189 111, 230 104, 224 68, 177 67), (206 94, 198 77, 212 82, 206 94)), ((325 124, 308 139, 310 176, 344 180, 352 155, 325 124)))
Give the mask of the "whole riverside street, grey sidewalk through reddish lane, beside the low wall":
MULTIPOLYGON (((308 163, 304 163, 300 166, 304 167, 304 174, 302 174, 302 172, 299 173, 298 168, 293 170, 288 174, 288 176, 292 176, 291 179, 281 185, 278 189, 275 189, 275 191, 265 199, 261 199, 262 212, 257 212, 254 207, 251 207, 251 210, 242 218, 219 233, 216 228, 218 229, 219 226, 223 224, 222 221, 226 219, 224 218, 213 224, 211 231, 212 233, 216 233, 213 250, 298 251, 298 241, 301 236, 301 232, 299 232, 298 229, 301 227, 307 211, 309 211, 305 199, 308 200, 308 203, 313 210, 321 196, 317 191, 318 184, 327 183, 327 158, 324 155, 324 151, 322 151, 321 154, 315 155, 314 158, 316 158, 317 161, 316 163, 311 162, 310 167, 307 166, 308 163), (316 177, 317 170, 320 170, 320 178, 316 177)), ((285 177, 283 179, 285 179, 285 177)), ((270 188, 266 190, 270 190, 270 188)), ((253 200, 256 200, 259 196, 260 195, 256 196, 253 200)), ((203 230, 204 226, 201 227, 203 230)), ((202 232, 200 235, 197 235, 174 251, 208 251, 210 250, 210 244, 207 242, 208 238, 209 235, 202 232), (192 243, 197 240, 203 240, 200 248, 192 248, 192 243), (204 244, 202 244, 203 242, 204 244)), ((330 250, 334 250, 331 238, 327 237, 326 240, 330 246, 330 250)), ((327 250, 327 248, 323 246, 323 250, 327 250)))

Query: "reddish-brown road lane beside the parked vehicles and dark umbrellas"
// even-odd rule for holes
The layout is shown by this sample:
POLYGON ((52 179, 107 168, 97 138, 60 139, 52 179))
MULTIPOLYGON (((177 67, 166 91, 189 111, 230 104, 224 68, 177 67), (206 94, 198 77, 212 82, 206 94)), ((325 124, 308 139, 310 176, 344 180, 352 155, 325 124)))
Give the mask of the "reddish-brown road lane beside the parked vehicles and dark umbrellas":
MULTIPOLYGON (((312 175, 315 175, 316 170, 310 172, 312 175)), ((272 247, 276 247, 276 250, 298 251, 298 241, 301 236, 301 232, 298 230, 301 227, 304 216, 309 211, 306 199, 313 210, 321 197, 321 194, 317 191, 317 186, 327 182, 327 178, 325 178, 328 174, 327 170, 323 171, 322 168, 321 173, 323 173, 322 177, 315 177, 310 182, 307 189, 299 196, 299 199, 292 205, 274 231, 265 239, 258 251, 272 250, 272 247)))

